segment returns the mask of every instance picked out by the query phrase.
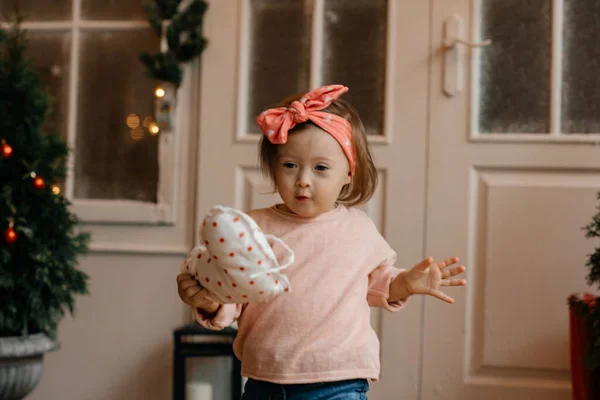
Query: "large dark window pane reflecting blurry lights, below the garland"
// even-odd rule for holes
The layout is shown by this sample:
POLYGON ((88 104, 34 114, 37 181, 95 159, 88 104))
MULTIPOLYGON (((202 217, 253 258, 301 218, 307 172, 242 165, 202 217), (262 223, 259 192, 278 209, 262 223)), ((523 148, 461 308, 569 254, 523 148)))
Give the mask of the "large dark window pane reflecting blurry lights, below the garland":
POLYGON ((157 136, 128 124, 154 114, 156 82, 144 76, 138 54, 158 48, 149 29, 82 33, 75 197, 156 201, 157 136))

